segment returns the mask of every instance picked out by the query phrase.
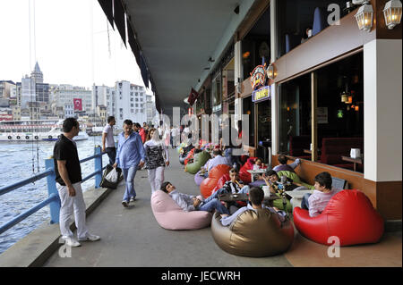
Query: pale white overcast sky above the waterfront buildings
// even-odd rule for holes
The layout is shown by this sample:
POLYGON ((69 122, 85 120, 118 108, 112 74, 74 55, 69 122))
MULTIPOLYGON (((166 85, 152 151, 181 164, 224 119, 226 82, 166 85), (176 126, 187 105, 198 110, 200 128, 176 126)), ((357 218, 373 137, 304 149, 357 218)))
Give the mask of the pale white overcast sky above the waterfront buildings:
POLYGON ((130 46, 96 0, 1 0, 0 27, 0 80, 21 81, 38 61, 45 83, 143 86, 130 46))

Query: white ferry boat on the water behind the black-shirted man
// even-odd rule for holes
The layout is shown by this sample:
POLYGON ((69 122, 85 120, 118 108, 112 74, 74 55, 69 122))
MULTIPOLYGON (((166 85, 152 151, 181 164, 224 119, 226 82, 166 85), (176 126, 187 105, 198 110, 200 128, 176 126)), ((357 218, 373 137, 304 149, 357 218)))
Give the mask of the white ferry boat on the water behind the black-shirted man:
MULTIPOLYGON (((0 121, 0 141, 57 140, 62 127, 63 120, 0 121)), ((88 138, 81 130, 73 140, 88 138)))

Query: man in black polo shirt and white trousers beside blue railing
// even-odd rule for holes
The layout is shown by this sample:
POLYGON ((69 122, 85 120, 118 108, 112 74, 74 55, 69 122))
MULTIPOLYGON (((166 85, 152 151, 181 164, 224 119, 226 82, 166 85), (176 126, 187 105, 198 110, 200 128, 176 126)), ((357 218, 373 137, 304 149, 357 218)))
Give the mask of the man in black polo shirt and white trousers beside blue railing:
POLYGON ((67 118, 63 122, 63 134, 56 141, 53 149, 55 162, 56 186, 61 201, 60 206, 60 231, 62 239, 67 246, 80 247, 79 241, 99 240, 99 236, 89 233, 85 222, 85 203, 81 190, 81 166, 77 153, 77 145, 73 138, 80 131, 79 122, 74 118, 67 118), (70 230, 70 216, 73 214, 77 227, 77 238, 73 238, 70 230))

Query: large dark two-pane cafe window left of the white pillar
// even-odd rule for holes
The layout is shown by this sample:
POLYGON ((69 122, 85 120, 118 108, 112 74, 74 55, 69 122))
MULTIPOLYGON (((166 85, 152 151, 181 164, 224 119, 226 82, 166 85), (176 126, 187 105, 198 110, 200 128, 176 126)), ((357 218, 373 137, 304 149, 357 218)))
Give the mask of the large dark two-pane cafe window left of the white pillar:
MULTIPOLYGON (((363 53, 313 72, 317 82, 316 161, 363 172, 362 156, 357 157, 361 159, 357 163, 346 160, 353 148, 364 155, 363 53)), ((309 160, 313 143, 312 75, 279 84, 279 151, 309 160)))

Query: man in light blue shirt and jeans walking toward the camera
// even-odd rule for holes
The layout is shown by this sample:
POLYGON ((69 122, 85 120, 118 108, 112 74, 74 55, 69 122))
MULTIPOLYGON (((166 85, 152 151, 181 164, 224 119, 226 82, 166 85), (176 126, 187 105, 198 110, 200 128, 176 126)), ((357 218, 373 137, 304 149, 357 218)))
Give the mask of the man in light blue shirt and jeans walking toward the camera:
POLYGON ((137 167, 141 168, 145 162, 145 152, 142 146, 140 135, 133 131, 133 122, 124 120, 124 131, 119 134, 119 142, 117 145, 116 162, 114 167, 119 166, 124 173, 124 181, 126 189, 122 205, 127 207, 136 197, 134 190, 134 177, 137 167))

